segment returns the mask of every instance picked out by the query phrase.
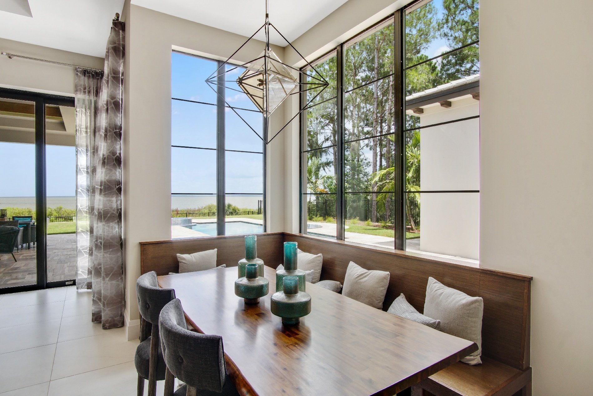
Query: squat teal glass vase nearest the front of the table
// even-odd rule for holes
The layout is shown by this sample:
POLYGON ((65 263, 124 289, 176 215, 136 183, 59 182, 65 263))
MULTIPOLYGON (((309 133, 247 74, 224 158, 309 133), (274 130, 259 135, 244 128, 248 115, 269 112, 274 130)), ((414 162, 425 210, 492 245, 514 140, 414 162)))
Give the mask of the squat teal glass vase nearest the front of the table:
POLYGON ((301 321, 302 316, 311 312, 311 296, 298 290, 299 278, 287 276, 283 278, 282 292, 272 294, 270 310, 282 318, 282 323, 294 325, 301 321))

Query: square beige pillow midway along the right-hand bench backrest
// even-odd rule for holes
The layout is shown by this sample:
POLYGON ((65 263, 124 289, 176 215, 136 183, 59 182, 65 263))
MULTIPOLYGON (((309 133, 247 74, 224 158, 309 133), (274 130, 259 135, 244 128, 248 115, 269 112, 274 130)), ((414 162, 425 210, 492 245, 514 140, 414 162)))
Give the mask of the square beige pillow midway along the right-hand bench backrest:
POLYGON ((365 270, 350 261, 342 294, 351 299, 381 309, 389 286, 389 273, 386 271, 365 270))

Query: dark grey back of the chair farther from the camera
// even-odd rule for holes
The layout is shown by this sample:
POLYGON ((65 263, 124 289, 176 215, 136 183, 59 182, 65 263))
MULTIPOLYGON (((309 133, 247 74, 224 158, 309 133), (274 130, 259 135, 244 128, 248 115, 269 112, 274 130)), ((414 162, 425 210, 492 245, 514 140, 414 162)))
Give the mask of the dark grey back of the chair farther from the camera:
POLYGON ((162 307, 175 298, 175 290, 158 287, 157 273, 151 271, 136 281, 138 309, 146 322, 158 325, 162 307))

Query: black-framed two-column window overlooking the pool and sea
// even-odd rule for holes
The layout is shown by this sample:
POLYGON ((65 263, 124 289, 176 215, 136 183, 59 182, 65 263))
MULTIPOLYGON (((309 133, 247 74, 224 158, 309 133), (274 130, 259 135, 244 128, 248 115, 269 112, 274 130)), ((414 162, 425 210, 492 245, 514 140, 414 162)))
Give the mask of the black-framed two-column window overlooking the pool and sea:
POLYGON ((206 83, 221 64, 172 54, 173 238, 264 231, 262 113, 238 91, 241 68, 227 65, 216 90, 206 83))

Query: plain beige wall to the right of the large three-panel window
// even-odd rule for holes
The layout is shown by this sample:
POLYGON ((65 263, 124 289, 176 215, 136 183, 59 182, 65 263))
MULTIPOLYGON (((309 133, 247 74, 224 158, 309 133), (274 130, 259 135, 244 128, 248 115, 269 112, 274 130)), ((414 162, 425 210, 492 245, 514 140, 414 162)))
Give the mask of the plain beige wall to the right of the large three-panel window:
POLYGON ((480 265, 534 277, 534 395, 593 388, 591 15, 480 4, 480 265))

